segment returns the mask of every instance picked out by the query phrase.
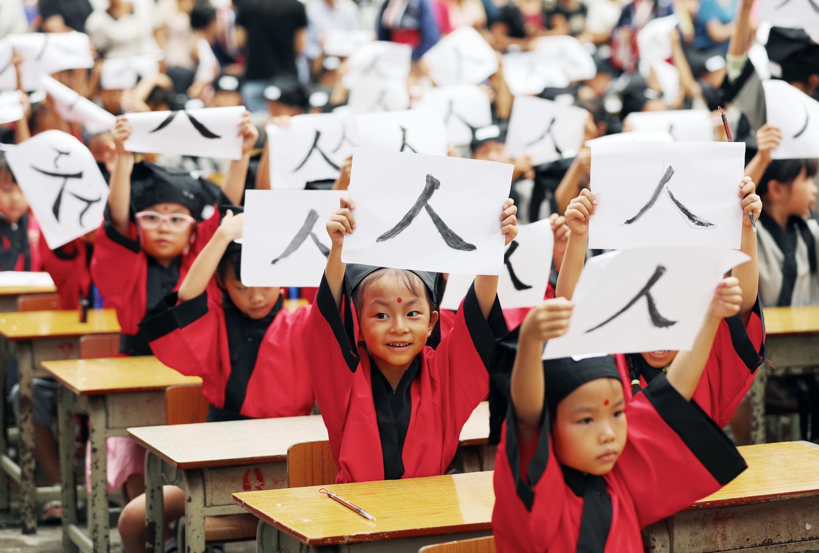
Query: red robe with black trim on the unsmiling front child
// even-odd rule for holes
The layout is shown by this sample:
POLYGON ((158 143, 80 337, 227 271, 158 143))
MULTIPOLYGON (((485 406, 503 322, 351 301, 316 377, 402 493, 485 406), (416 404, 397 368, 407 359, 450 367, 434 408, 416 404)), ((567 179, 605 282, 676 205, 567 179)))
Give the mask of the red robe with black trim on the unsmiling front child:
POLYGON ((722 430, 664 377, 629 402, 626 416, 622 456, 609 474, 595 477, 559 464, 548 409, 540 438, 523 447, 509 410, 495 460, 492 528, 499 553, 643 553, 640 528, 686 509, 745 469, 722 430), (607 495, 606 515, 584 519, 606 512, 607 495))

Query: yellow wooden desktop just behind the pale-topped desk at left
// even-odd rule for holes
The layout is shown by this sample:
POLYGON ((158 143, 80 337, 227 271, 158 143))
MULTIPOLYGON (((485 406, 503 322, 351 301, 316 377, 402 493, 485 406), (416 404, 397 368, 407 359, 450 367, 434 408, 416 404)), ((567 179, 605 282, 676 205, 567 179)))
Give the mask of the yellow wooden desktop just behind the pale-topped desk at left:
POLYGON ((198 376, 183 376, 154 356, 44 361, 43 368, 79 396, 152 392, 201 383, 198 376))

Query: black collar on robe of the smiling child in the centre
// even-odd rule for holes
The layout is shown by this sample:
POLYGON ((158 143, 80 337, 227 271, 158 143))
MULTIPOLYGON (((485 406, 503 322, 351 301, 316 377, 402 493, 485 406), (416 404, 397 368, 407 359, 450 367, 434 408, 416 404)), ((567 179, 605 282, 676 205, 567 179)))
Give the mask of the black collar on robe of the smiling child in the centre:
POLYGON ((390 381, 369 358, 369 378, 373 387, 373 406, 378 420, 378 435, 384 459, 384 479, 397 480, 404 476, 404 440, 412 416, 412 383, 418 376, 421 362, 418 356, 401 377, 395 392, 390 381))

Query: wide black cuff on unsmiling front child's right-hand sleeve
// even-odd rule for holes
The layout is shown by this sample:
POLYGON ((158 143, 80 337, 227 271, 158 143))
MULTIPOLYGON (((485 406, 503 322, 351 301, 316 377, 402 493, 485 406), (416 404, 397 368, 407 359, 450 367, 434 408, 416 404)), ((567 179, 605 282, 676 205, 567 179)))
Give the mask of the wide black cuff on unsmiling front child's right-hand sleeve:
POLYGON ((686 401, 665 374, 654 378, 643 390, 658 415, 682 438, 708 472, 725 486, 747 468, 731 439, 722 432, 695 401, 686 401))

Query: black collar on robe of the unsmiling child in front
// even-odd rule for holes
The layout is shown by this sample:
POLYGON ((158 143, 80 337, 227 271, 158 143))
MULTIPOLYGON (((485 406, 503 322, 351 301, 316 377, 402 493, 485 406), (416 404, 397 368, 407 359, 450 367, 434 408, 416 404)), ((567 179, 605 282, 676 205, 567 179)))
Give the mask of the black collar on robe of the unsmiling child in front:
POLYGON ((560 465, 560 468, 563 469, 563 480, 574 495, 583 498, 577 553, 603 553, 612 527, 612 498, 604 478, 581 473, 566 465, 560 465))

